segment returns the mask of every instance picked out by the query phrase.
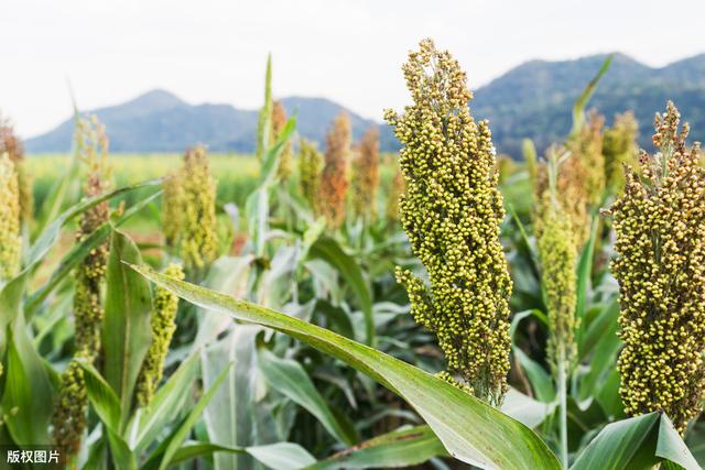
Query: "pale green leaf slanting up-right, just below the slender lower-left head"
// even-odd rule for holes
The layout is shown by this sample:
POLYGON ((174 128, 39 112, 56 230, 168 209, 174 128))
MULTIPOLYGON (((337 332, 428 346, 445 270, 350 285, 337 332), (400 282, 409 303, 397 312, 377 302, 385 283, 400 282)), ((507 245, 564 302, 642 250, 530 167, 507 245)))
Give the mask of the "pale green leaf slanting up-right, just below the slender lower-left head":
POLYGON ((170 422, 174 419, 174 411, 182 409, 188 392, 198 372, 198 361, 195 354, 189 356, 181 363, 178 369, 169 380, 156 391, 150 404, 140 409, 139 414, 132 416, 128 429, 134 425, 133 420, 139 418, 138 433, 134 442, 130 447, 140 452, 149 447, 156 436, 170 422))

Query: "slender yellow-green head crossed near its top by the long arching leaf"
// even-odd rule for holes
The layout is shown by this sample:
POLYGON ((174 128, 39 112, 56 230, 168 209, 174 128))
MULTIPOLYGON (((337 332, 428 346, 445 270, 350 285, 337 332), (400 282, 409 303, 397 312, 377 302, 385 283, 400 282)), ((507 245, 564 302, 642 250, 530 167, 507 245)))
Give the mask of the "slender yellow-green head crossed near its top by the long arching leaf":
MULTIPOLYGON (((184 271, 178 264, 170 264, 164 274, 176 278, 184 278, 184 271)), ((142 363, 142 370, 137 382, 137 400, 140 406, 149 405, 159 382, 162 380, 164 360, 169 353, 169 345, 176 330, 176 308, 178 297, 171 292, 156 288, 154 310, 152 311, 152 343, 142 363)))

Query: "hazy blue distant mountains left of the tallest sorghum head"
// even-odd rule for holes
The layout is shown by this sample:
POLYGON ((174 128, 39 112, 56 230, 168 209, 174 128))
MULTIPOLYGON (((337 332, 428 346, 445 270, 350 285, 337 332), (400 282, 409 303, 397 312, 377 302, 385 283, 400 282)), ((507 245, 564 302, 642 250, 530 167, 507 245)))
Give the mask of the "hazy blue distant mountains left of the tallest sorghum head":
MULTIPOLYGON (((341 110, 350 117, 354 139, 378 125, 324 98, 290 97, 282 99, 282 105, 289 114, 296 112, 300 134, 317 142, 325 141, 328 124, 341 110)), ((230 105, 192 106, 169 91, 152 90, 123 105, 87 113, 96 114, 106 125, 112 152, 183 152, 195 143, 205 143, 216 152, 254 151, 258 111, 230 105)), ((56 129, 29 139, 25 147, 30 153, 67 152, 73 127, 68 119, 56 129)), ((386 132, 388 141, 393 139, 389 130, 386 132)))

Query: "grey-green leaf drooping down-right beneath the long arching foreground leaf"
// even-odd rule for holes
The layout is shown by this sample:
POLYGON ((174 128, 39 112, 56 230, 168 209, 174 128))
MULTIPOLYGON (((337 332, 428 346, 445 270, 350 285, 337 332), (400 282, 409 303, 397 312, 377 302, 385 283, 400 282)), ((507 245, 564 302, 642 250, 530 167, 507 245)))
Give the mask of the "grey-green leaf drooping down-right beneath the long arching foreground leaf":
POLYGON ((270 350, 259 348, 258 363, 270 386, 308 411, 340 442, 355 444, 357 437, 346 431, 299 362, 281 359, 270 350))

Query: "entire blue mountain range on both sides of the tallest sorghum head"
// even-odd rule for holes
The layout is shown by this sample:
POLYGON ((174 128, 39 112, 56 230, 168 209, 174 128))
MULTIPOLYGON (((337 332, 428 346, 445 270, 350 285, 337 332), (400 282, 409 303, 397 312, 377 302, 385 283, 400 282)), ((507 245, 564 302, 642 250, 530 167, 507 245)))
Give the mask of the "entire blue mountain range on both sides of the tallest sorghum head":
MULTIPOLYGON (((565 138, 573 102, 605 58, 603 54, 575 61, 527 62, 475 90, 473 114, 489 119, 499 152, 520 157, 525 138, 543 151, 565 138)), ((639 120, 640 144, 650 149, 653 114, 663 111, 669 99, 691 123, 691 140, 705 140, 705 54, 652 68, 616 53, 589 108, 597 108, 608 123, 615 113, 632 109, 639 120)), ((322 147, 330 121, 345 109, 324 98, 289 97, 282 103, 290 114, 296 111, 300 134, 321 142, 322 147)), ((229 105, 194 106, 167 91, 153 90, 123 105, 89 112, 106 124, 115 152, 182 152, 197 142, 214 151, 254 150, 257 111, 229 105)), ((381 149, 398 147, 389 127, 347 112, 355 139, 370 125, 380 125, 381 149)), ((68 151, 72 129, 67 120, 28 140, 26 149, 33 153, 68 151)))

